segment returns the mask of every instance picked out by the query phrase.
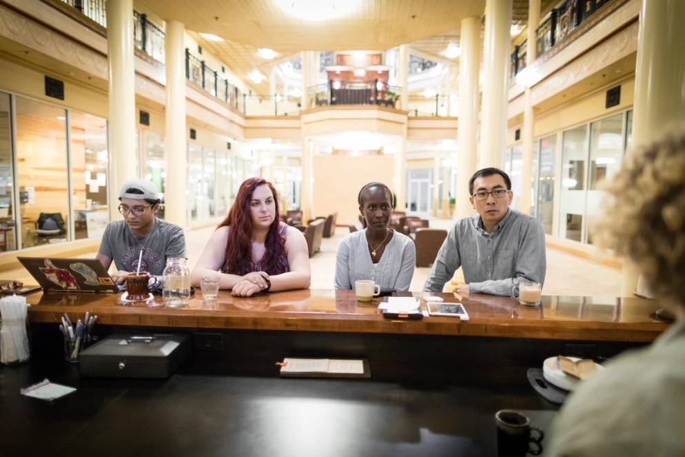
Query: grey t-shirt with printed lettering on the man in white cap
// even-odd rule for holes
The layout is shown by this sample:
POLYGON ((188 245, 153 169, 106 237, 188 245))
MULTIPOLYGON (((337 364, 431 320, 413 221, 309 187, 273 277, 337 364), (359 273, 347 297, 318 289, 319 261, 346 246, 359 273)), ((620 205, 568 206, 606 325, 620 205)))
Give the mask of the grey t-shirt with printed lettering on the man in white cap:
POLYGON ((164 271, 167 258, 185 257, 185 236, 183 229, 154 218, 152 232, 138 238, 125 221, 108 223, 100 243, 100 254, 114 261, 117 270, 134 272, 138 267, 138 256, 143 249, 141 271, 159 276, 164 271))

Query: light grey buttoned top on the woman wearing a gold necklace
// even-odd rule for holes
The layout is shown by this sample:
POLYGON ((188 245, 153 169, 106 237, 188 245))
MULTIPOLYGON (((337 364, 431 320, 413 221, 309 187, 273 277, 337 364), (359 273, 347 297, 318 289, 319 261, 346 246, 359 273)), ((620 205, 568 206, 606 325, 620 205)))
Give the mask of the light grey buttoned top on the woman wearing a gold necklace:
POLYGON ((373 279, 381 290, 407 291, 416 262, 416 246, 409 236, 393 232, 378 263, 371 260, 366 229, 340 241, 336 259, 335 288, 354 290, 360 279, 373 279))

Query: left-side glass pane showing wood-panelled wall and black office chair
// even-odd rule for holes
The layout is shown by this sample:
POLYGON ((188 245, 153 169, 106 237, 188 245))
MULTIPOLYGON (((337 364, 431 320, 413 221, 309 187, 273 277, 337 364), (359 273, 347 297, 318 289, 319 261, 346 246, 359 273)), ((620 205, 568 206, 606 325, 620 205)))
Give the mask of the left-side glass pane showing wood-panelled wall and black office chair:
POLYGON ((69 238, 66 111, 15 97, 21 247, 69 238))

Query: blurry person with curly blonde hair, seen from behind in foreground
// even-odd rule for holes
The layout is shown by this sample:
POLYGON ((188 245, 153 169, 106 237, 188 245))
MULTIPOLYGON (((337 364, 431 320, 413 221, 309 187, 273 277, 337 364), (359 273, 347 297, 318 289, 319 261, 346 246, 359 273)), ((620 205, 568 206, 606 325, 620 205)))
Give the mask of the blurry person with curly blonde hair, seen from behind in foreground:
POLYGON ((676 321, 569 397, 550 455, 685 456, 685 125, 628 153, 607 191, 600 244, 637 266, 676 321))

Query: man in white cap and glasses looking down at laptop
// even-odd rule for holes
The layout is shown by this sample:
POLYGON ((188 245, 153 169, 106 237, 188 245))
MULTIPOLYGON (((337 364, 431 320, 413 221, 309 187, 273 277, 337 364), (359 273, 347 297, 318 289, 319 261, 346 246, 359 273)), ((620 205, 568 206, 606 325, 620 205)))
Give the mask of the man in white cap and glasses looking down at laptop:
POLYGON ((105 270, 112 261, 119 270, 112 275, 117 284, 123 283, 129 272, 138 269, 141 251, 141 272, 161 276, 169 257, 185 257, 183 229, 157 219, 159 194, 147 179, 126 181, 119 193, 119 212, 123 221, 110 222, 102 236, 96 258, 105 270))

